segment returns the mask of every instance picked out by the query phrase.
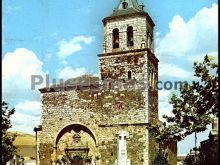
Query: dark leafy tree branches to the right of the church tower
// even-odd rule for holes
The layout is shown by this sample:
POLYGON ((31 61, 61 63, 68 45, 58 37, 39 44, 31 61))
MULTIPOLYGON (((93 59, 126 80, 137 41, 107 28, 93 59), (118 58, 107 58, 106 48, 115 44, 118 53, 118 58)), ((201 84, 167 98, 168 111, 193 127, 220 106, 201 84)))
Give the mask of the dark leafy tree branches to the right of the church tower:
POLYGON ((195 81, 183 85, 169 101, 172 116, 163 116, 166 122, 162 124, 148 126, 159 142, 180 141, 192 133, 196 137, 218 116, 218 64, 206 55, 193 68, 195 81))

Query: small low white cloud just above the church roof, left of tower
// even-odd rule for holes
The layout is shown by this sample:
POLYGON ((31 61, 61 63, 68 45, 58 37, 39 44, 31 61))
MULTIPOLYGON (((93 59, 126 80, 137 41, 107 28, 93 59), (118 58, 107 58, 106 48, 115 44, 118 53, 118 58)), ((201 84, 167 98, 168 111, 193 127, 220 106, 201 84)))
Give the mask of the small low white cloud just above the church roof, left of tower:
POLYGON ((63 70, 61 70, 58 74, 59 78, 61 79, 70 79, 75 78, 78 76, 82 76, 86 74, 85 68, 71 68, 69 66, 66 66, 63 70))

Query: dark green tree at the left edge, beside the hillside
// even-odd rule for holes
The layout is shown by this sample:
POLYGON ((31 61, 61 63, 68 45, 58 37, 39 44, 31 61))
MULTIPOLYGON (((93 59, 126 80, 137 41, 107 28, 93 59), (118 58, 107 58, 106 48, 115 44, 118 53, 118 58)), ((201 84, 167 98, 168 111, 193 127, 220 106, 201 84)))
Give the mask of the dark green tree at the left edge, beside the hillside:
POLYGON ((2 164, 5 165, 10 159, 13 158, 16 153, 16 147, 13 145, 13 141, 15 140, 15 136, 11 136, 8 134, 8 129, 12 127, 10 117, 15 112, 15 109, 9 109, 8 104, 6 102, 2 102, 2 164))

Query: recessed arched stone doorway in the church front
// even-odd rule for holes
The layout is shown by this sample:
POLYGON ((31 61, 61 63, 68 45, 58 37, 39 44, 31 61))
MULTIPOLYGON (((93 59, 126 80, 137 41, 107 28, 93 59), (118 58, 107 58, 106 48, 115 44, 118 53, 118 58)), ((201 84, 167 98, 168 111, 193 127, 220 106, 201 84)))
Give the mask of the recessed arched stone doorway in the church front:
POLYGON ((68 165, 87 165, 98 155, 94 133, 82 124, 64 127, 57 135, 55 148, 56 160, 68 165))

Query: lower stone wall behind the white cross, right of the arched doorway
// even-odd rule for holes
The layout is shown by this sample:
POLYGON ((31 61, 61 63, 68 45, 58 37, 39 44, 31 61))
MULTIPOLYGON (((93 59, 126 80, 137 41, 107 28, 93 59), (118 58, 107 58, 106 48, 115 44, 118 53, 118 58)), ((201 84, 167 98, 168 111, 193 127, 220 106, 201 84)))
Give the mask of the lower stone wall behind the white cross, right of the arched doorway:
POLYGON ((146 156, 146 128, 142 126, 118 126, 118 127, 105 127, 102 131, 101 145, 99 152, 101 154, 101 164, 113 165, 117 158, 117 137, 116 133, 120 130, 129 132, 127 139, 127 153, 128 159, 131 164, 147 164, 146 156))

